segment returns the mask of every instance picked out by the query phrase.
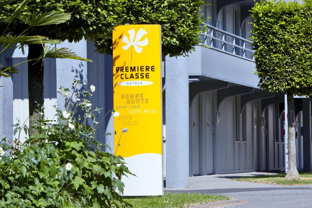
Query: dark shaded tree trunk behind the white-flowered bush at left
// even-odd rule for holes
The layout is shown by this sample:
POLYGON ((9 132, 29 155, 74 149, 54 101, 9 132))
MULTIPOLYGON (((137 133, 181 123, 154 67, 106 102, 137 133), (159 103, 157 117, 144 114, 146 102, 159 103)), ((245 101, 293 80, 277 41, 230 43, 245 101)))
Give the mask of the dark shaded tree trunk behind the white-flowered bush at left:
MULTIPOLYGON (((43 52, 41 44, 28 45, 28 60, 38 58, 43 52)), ((28 62, 28 98, 29 98, 29 133, 30 135, 38 133, 37 129, 32 128, 40 119, 36 110, 43 113, 43 60, 28 62), (37 103, 36 103, 37 102, 37 103), (39 105, 39 106, 38 106, 39 105)))

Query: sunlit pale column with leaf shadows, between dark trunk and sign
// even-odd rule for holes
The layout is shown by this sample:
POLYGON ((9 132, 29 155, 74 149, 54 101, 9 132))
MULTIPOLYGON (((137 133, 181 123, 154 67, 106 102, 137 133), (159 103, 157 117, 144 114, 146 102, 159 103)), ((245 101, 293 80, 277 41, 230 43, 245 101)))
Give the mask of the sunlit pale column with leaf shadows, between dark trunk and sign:
MULTIPOLYGON (((87 58, 87 41, 81 40, 77 43, 69 43, 64 41, 60 45, 56 45, 57 48, 69 48, 74 51, 78 56, 87 58)), ((77 91, 89 90, 87 82, 87 62, 71 59, 56 59, 56 88, 60 86, 68 88, 73 91, 73 80, 78 79, 85 82, 87 85, 81 85, 77 91), (71 78, 72 77, 72 78, 71 78)), ((56 90, 56 89, 55 89, 56 90)), ((67 99, 68 100, 68 99, 67 99)), ((63 95, 57 94, 57 101, 60 109, 65 109, 65 99, 63 95)))

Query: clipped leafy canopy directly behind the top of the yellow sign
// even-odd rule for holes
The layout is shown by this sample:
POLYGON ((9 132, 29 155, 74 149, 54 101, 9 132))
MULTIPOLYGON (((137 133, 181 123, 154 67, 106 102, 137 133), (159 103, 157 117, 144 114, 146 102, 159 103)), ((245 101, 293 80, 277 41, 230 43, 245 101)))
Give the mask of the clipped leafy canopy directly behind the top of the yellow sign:
MULTIPOLYGON (((162 30, 162 53, 180 56, 191 52, 199 43, 202 33, 200 16, 202 0, 120 0, 123 8, 119 25, 159 24, 162 30)), ((96 40, 100 53, 112 53, 112 33, 96 40)))

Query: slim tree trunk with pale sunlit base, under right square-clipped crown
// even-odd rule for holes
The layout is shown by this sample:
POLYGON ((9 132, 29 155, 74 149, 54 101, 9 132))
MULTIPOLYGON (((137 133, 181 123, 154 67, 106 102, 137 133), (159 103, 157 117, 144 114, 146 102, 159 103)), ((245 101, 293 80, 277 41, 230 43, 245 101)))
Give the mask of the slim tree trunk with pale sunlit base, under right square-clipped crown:
POLYGON ((286 179, 299 179, 296 164, 295 113, 294 94, 287 92, 287 124, 288 124, 288 172, 286 179))

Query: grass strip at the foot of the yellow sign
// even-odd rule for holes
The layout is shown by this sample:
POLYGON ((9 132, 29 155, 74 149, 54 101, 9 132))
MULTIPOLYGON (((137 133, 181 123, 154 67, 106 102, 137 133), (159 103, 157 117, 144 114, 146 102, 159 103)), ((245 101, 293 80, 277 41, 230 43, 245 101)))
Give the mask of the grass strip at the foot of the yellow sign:
POLYGON ((222 195, 167 192, 163 196, 126 198, 125 201, 132 204, 134 208, 182 208, 229 199, 231 197, 222 195))

